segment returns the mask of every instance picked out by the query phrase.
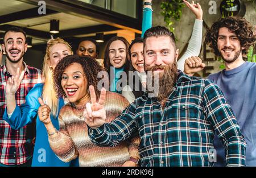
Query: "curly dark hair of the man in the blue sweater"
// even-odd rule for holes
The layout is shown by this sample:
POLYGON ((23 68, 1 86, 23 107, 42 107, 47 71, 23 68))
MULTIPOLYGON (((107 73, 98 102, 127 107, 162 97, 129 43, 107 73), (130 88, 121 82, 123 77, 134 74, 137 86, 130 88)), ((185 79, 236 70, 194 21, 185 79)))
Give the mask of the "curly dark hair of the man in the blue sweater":
POLYGON ((221 56, 220 51, 218 50, 217 40, 218 40, 218 30, 222 27, 228 28, 231 32, 234 32, 238 39, 240 40, 242 54, 246 55, 248 49, 251 45, 254 45, 256 40, 253 35, 253 27, 251 24, 245 19, 236 16, 228 16, 226 18, 220 18, 217 22, 212 24, 212 27, 207 30, 205 33, 205 42, 209 45, 209 47, 214 49, 214 54, 217 56, 221 56))

